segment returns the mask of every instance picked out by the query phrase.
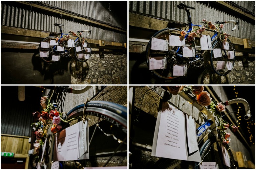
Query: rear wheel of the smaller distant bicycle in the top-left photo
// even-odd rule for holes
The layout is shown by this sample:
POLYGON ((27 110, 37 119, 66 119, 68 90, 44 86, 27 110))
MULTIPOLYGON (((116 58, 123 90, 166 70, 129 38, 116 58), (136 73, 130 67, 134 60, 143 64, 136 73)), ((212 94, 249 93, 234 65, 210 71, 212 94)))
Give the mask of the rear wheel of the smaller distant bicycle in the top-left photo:
POLYGON ((56 52, 56 46, 50 45, 51 40, 56 40, 56 37, 46 37, 43 39, 38 47, 39 56, 42 58, 43 61, 47 63, 53 63, 56 60, 53 60, 53 55, 58 56, 59 54, 56 52), (43 42, 43 43, 42 43, 43 42), (45 45, 45 43, 48 43, 49 46, 45 45), (42 47, 41 47, 42 46, 42 47))

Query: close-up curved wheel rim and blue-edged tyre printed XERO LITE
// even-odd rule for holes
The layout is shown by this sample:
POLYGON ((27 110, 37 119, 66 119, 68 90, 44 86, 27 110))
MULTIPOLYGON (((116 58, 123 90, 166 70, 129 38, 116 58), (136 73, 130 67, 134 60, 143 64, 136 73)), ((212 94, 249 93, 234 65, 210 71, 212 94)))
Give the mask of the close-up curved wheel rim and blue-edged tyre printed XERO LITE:
POLYGON ((80 104, 71 109, 64 119, 71 119, 83 115, 103 118, 127 134, 127 108, 122 105, 108 101, 90 101, 86 103, 85 110, 84 104, 80 104))

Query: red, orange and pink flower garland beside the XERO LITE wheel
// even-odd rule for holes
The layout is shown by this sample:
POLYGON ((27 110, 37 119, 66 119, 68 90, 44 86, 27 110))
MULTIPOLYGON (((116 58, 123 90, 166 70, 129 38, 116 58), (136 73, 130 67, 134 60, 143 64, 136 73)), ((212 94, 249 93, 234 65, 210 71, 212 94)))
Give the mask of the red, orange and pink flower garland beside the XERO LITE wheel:
POLYGON ((33 128, 33 130, 35 131, 34 134, 36 136, 34 150, 37 154, 39 154, 40 148, 44 145, 49 127, 51 127, 51 131, 53 134, 57 133, 62 129, 60 125, 60 116, 62 116, 62 113, 59 113, 57 109, 53 110, 53 104, 47 98, 47 96, 41 97, 40 101, 43 110, 41 112, 36 111, 33 113, 33 116, 39 121, 36 123, 32 123, 32 125, 35 125, 35 127, 33 128))

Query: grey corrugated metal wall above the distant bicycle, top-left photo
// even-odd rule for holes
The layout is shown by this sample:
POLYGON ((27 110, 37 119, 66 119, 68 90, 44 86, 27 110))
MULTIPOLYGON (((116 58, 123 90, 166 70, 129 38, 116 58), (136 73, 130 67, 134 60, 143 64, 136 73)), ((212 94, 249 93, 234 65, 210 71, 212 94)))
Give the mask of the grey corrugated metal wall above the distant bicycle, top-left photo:
MULTIPOLYGON (((102 1, 42 1, 50 5, 70 10, 80 15, 85 15, 96 20, 108 23, 109 3, 102 1)), ((110 24, 127 29, 127 6, 122 7, 118 2, 110 1, 110 24), (115 8, 119 5, 119 8, 115 8), (120 13, 122 12, 122 13, 120 13), (125 16, 125 17, 123 17, 125 16)), ((54 23, 64 24, 63 33, 69 30, 79 31, 91 29, 91 39, 103 39, 106 41, 127 42, 125 33, 107 30, 100 26, 91 25, 82 21, 64 17, 49 12, 39 11, 31 6, 22 5, 11 1, 1 1, 1 25, 35 30, 60 32, 54 23)))

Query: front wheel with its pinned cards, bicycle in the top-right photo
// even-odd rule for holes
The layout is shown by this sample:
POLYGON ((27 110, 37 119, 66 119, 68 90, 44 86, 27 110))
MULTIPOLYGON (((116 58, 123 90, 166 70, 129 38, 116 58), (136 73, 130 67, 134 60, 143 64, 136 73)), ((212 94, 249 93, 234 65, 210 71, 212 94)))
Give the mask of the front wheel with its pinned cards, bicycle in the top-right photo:
POLYGON ((235 48, 229 39, 225 44, 226 48, 223 49, 223 42, 218 39, 213 43, 213 50, 211 51, 212 68, 220 76, 227 75, 235 64, 235 48), (216 51, 215 55, 214 50, 216 51))

